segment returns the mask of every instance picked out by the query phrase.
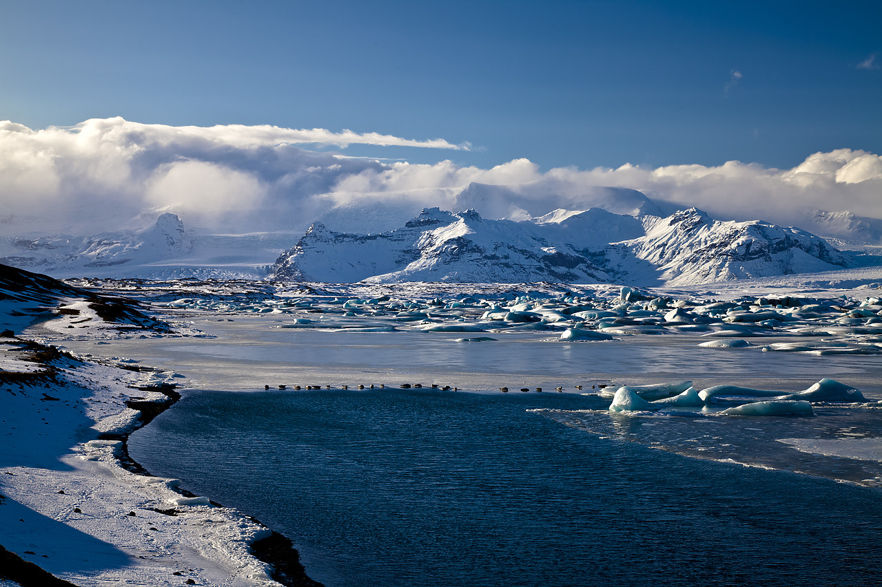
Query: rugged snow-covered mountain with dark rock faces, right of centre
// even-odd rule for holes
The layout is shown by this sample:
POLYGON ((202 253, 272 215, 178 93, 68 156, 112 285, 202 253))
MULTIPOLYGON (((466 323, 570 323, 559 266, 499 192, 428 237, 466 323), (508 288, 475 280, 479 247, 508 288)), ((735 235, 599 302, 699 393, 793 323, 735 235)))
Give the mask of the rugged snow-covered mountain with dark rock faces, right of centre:
POLYGON ((313 225, 273 266, 271 279, 619 282, 684 286, 832 271, 849 264, 826 241, 762 221, 720 222, 694 208, 639 218, 597 208, 534 220, 423 210, 382 234, 313 225))

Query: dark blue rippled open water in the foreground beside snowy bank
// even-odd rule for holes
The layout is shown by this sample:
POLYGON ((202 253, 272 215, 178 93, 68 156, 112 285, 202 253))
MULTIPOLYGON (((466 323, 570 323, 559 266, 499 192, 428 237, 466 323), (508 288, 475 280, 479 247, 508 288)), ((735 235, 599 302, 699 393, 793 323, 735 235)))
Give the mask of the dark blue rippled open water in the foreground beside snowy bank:
MULTIPOLYGON (((596 402, 600 405, 596 405, 596 402)), ((332 585, 878 585, 882 493, 604 439, 557 394, 203 391, 132 435, 332 585)))

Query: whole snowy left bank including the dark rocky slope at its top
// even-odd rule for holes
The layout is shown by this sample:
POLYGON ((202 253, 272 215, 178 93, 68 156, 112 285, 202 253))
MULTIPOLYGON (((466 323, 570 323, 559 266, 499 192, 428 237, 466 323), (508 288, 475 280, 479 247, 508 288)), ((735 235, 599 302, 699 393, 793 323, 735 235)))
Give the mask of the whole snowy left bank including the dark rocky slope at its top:
MULTIPOLYGON (((125 323, 132 307, 115 301, 123 323, 108 322, 100 316, 109 317, 101 309, 108 300, 87 302, 76 288, 12 273, 0 291, 0 544, 81 586, 317 584, 286 539, 263 524, 188 494, 176 479, 137 472, 125 440, 173 403, 175 374, 74 357, 12 330, 55 312, 56 331, 146 332, 125 323)), ((38 582, 14 557, 0 565, 3 578, 16 578, 4 585, 38 582)))

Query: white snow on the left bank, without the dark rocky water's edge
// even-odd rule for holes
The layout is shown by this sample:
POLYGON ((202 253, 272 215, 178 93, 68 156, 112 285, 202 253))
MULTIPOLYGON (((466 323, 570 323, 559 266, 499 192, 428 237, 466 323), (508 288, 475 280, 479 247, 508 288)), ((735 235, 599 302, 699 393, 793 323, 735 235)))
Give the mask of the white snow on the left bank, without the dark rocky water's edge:
MULTIPOLYGON (((54 375, 35 372, 26 362, 32 353, 15 350, 20 346, 17 339, 4 342, 3 370, 31 375, 4 376, 0 384, 6 549, 83 586, 278 584, 250 553, 252 542, 271 533, 265 526, 206 497, 183 497, 176 479, 124 469, 117 460, 122 442, 97 439, 138 425, 140 413, 126 407, 127 399, 168 399, 135 390, 142 374, 63 355, 53 362, 54 375), (158 511, 172 509, 174 516, 158 511)), ((151 375, 155 381, 174 374, 151 375)))

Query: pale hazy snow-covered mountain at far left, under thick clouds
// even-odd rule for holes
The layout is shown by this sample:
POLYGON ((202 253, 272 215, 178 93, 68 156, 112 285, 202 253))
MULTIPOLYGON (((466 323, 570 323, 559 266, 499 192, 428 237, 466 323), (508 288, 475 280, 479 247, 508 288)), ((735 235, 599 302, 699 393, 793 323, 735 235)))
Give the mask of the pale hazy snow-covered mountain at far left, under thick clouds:
POLYGON ((261 279, 294 233, 201 234, 175 214, 153 225, 92 236, 0 239, 0 263, 56 277, 261 279))

